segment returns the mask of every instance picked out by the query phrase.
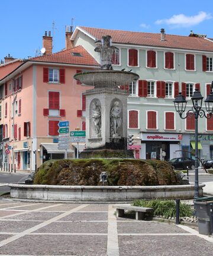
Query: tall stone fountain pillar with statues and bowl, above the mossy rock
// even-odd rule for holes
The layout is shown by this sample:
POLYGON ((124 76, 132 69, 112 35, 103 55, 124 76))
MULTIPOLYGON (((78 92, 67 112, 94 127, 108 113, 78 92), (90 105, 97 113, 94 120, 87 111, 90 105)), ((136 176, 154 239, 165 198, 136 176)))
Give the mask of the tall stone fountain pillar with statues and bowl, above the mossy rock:
POLYGON ((112 55, 118 48, 111 46, 111 36, 103 36, 95 52, 101 54, 99 71, 77 73, 74 78, 91 85, 86 95, 86 147, 80 158, 134 158, 127 150, 127 97, 120 89, 139 76, 128 71, 114 71, 112 55))

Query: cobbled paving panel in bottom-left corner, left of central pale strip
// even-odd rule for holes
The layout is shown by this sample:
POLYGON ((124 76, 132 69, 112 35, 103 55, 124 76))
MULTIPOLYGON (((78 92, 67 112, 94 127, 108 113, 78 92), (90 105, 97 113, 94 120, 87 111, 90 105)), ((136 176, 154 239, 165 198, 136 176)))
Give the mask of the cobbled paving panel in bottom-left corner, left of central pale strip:
POLYGON ((1 254, 106 256, 107 236, 27 235, 1 248, 1 254))

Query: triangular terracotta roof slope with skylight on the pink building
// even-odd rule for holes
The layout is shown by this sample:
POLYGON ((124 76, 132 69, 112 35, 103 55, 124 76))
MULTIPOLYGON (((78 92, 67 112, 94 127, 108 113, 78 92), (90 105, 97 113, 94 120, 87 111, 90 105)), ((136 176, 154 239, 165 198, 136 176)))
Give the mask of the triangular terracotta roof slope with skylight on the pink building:
POLYGON ((38 62, 56 62, 76 65, 99 66, 98 62, 96 62, 96 60, 82 46, 76 46, 68 50, 62 50, 51 55, 33 57, 30 60, 38 62), (72 53, 80 53, 82 56, 73 56, 72 53))

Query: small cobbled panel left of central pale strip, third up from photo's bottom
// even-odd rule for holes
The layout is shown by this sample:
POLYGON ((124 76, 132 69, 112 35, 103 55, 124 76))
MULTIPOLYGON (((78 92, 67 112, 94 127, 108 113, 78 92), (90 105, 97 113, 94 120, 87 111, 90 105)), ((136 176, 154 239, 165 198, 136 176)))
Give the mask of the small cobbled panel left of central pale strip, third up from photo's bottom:
POLYGON ((108 213, 107 212, 75 212, 71 213, 70 215, 63 217, 60 220, 64 221, 78 221, 78 220, 108 220, 108 213))

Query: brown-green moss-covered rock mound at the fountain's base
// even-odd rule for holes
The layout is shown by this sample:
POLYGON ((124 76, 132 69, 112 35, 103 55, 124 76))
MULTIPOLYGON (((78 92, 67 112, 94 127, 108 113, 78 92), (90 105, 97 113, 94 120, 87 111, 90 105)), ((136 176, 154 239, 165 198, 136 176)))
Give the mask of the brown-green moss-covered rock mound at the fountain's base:
POLYGON ((167 162, 140 159, 49 160, 38 168, 34 184, 98 185, 104 171, 108 185, 177 184, 175 171, 167 162))

